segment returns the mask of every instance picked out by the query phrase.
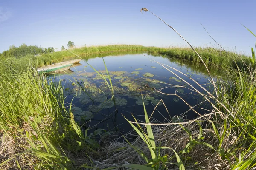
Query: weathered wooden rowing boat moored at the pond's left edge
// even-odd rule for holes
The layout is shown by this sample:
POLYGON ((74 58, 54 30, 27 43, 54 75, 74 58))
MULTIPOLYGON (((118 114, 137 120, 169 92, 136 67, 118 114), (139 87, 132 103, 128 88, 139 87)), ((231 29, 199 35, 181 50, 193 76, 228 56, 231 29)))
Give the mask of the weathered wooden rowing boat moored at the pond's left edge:
POLYGON ((59 71, 64 71, 70 69, 70 67, 73 64, 77 64, 81 61, 82 59, 73 59, 69 61, 63 61, 63 62, 57 62, 51 65, 46 65, 44 67, 40 67, 37 69, 38 72, 44 72, 44 73, 56 73, 59 71))

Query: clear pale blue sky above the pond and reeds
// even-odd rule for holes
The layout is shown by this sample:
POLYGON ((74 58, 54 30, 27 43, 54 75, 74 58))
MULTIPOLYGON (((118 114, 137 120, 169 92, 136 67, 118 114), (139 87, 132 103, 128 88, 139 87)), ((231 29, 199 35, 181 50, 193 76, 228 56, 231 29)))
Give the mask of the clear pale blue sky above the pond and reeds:
POLYGON ((178 46, 186 43, 148 8, 173 26, 193 46, 215 42, 200 23, 224 48, 250 54, 256 37, 256 0, 1 0, 0 52, 10 45, 67 47, 138 44, 178 46))

